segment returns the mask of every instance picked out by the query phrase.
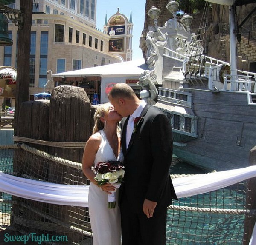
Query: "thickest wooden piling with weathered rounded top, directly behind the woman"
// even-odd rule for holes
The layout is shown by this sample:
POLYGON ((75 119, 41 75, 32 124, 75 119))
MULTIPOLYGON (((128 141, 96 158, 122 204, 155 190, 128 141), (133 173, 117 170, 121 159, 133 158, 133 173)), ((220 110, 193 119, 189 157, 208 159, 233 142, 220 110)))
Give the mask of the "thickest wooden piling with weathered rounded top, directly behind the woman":
MULTIPOLYGON (((91 103, 83 88, 58 86, 52 91, 49 112, 49 141, 86 142, 90 137, 91 103)), ((52 147, 49 153, 73 162, 82 162, 83 148, 52 147)), ((87 182, 81 170, 60 164, 49 166, 49 181, 58 184, 81 185, 87 182)), ((84 229, 88 225, 88 208, 49 205, 49 214, 67 225, 84 229), (61 209, 60 209, 61 208, 61 209)), ((79 242, 82 234, 70 231, 68 241, 79 242)))

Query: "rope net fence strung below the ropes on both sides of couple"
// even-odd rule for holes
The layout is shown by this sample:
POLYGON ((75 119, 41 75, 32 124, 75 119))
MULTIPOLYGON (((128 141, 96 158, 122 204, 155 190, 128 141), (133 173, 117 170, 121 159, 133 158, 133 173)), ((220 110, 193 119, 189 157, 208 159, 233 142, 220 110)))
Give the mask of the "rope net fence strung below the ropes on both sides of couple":
MULTIPOLYGON (((26 179, 85 185, 81 164, 51 156, 28 145, 0 146, 0 171, 26 179)), ((177 178, 180 176, 172 176, 177 178)), ((247 180, 204 194, 180 198, 168 209, 168 245, 241 245, 246 208, 247 180)), ((0 192, 0 228, 22 234, 44 234, 55 241, 41 244, 92 245, 87 207, 39 202, 0 192)), ((1 230, 1 229, 0 229, 1 230)), ((4 232, 4 231, 3 231, 4 232)))

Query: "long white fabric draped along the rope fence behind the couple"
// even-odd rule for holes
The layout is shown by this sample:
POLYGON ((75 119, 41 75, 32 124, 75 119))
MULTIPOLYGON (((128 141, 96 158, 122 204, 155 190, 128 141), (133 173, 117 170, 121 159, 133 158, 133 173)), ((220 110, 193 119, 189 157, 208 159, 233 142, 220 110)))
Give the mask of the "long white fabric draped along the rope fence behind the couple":
MULTIPOLYGON (((178 198, 215 191, 256 177, 256 166, 172 179, 178 198)), ((0 192, 39 202, 88 207, 87 185, 61 185, 0 172, 0 192)), ((249 245, 256 244, 256 228, 249 245)))

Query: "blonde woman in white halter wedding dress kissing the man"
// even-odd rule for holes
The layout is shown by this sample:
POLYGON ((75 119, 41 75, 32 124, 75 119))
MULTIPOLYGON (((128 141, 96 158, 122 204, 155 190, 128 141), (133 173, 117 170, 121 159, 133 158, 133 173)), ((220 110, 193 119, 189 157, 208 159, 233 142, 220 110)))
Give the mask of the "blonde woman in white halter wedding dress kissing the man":
MULTIPOLYGON (((115 190, 107 183, 96 185, 92 167, 98 162, 123 161, 120 152, 120 134, 117 124, 121 116, 110 103, 97 108, 94 114, 93 135, 87 141, 83 154, 83 172, 90 180, 89 215, 93 231, 93 245, 121 245, 121 221, 119 207, 108 208, 108 194, 115 190)), ((116 191, 118 200, 118 189, 116 191)))

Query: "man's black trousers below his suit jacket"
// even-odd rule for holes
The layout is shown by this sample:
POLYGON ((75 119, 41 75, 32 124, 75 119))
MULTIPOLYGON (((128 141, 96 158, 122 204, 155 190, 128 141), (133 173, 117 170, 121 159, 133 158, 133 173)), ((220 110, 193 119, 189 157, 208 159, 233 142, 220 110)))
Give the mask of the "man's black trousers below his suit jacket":
POLYGON ((120 205, 122 245, 166 245, 167 208, 154 212, 152 218, 134 213, 128 202, 120 205))

